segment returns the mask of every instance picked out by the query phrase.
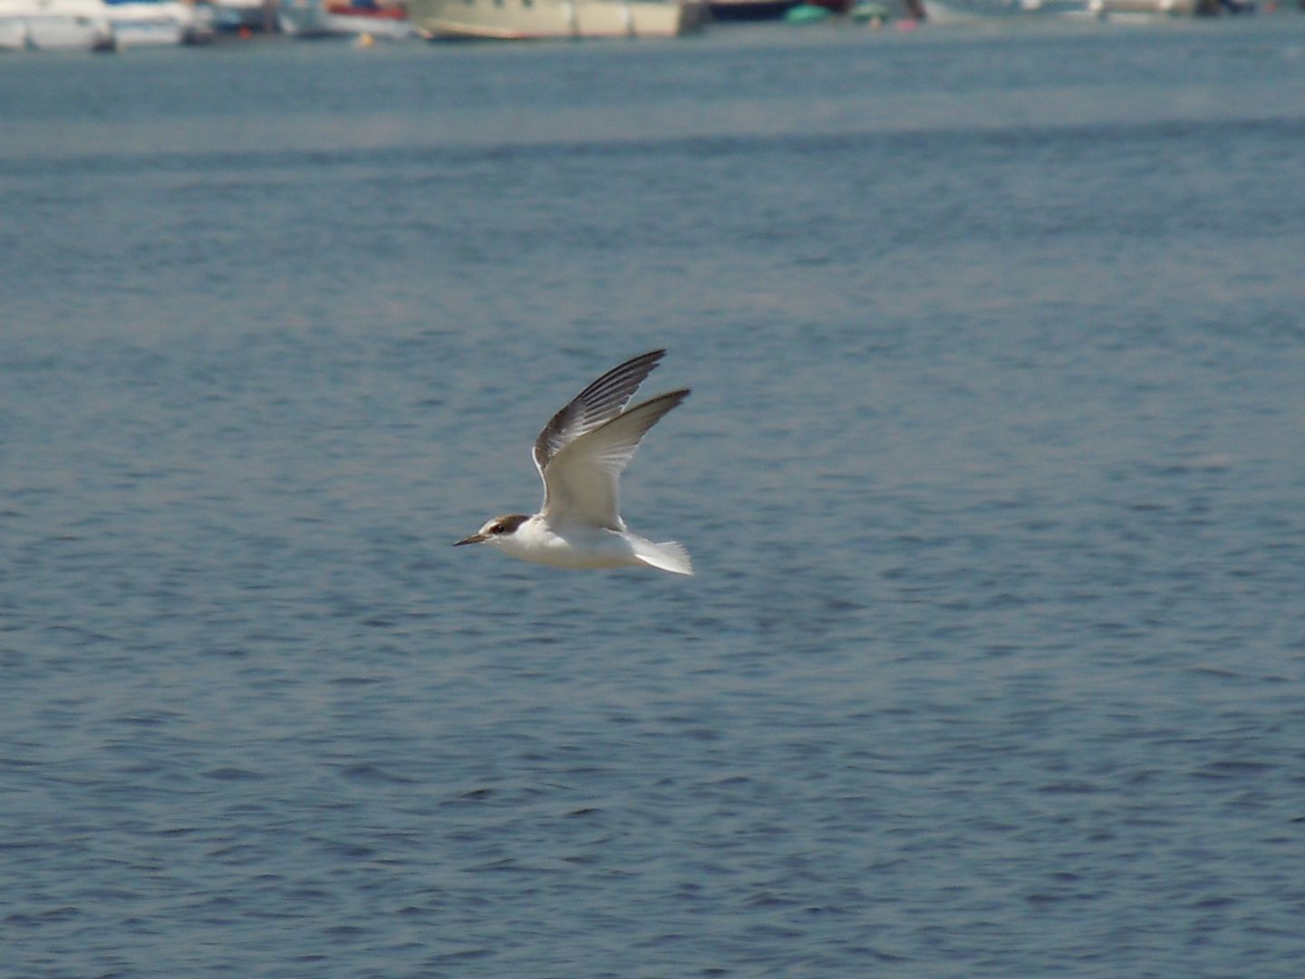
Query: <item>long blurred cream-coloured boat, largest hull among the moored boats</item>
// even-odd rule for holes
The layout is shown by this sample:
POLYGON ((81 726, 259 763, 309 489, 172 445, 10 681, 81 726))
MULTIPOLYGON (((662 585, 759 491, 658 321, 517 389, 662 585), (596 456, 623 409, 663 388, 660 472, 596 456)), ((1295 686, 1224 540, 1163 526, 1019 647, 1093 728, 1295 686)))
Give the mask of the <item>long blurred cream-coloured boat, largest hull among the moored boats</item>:
POLYGON ((428 38, 673 38, 702 25, 701 0, 410 0, 428 38))

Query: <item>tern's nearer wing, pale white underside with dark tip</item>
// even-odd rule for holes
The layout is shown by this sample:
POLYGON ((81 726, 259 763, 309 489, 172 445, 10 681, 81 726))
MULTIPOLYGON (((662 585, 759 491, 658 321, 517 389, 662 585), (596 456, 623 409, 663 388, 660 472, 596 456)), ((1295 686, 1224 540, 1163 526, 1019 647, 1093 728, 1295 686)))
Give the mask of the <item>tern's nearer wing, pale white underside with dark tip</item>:
POLYGON ((544 520, 555 526, 579 521, 625 530, 617 493, 621 471, 634 458, 643 433, 686 397, 688 389, 645 401, 557 449, 540 467, 544 520))

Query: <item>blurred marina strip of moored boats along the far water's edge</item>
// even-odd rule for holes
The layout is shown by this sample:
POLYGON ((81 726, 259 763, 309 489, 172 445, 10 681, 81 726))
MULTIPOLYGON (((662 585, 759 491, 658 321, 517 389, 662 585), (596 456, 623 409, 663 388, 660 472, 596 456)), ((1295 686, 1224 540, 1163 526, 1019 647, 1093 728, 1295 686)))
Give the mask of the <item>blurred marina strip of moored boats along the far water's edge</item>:
MULTIPOLYGON (((0 0, 0 51, 117 51, 219 39, 675 38, 711 23, 903 29, 1250 14, 1257 0, 0 0)), ((1305 9, 1263 4, 1265 12, 1305 9)))

